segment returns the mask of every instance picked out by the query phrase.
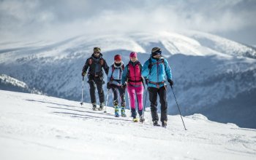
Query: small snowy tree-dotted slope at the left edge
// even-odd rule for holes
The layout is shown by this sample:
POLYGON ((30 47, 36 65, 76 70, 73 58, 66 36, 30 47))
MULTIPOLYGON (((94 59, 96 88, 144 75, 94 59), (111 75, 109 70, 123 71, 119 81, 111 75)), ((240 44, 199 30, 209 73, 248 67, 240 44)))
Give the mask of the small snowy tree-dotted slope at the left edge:
POLYGON ((28 85, 23 81, 19 81, 18 79, 14 79, 5 74, 0 74, 0 89, 15 92, 34 93, 39 95, 42 94, 42 92, 39 92, 37 89, 29 88, 28 85))

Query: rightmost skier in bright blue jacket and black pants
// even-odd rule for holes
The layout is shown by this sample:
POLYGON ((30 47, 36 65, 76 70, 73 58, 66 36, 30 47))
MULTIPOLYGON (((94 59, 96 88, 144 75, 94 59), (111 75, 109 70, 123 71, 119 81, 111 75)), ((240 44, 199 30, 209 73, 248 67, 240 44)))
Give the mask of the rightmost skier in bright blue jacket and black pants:
POLYGON ((151 50, 151 57, 144 63, 142 76, 146 79, 148 85, 149 100, 151 102, 151 116, 154 126, 158 124, 157 115, 157 94, 161 104, 162 127, 167 126, 167 101, 166 101, 166 81, 173 86, 172 73, 167 60, 162 57, 162 51, 159 47, 151 50))

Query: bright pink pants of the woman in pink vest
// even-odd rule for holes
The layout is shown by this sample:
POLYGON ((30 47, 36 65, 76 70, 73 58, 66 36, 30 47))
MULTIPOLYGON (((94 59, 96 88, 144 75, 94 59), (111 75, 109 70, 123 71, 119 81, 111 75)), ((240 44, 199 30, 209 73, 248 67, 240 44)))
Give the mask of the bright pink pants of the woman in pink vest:
POLYGON ((127 92, 129 94, 129 106, 132 109, 135 109, 135 97, 137 95, 137 103, 138 103, 138 110, 143 110, 143 85, 140 85, 138 87, 134 87, 131 85, 127 85, 127 92))

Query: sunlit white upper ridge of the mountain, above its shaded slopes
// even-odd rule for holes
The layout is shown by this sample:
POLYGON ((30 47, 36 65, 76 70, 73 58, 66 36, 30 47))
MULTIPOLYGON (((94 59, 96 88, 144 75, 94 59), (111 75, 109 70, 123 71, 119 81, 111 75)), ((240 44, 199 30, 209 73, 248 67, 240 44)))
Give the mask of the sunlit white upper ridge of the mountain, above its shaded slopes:
POLYGON ((196 31, 80 35, 63 41, 37 41, 34 43, 25 42, 24 44, 16 42, 11 44, 0 44, 0 63, 43 57, 50 57, 48 62, 67 57, 82 57, 85 54, 90 55, 93 47, 101 47, 102 52, 127 50, 148 54, 151 53, 152 47, 161 47, 165 57, 176 54, 256 57, 256 51, 252 47, 196 31))

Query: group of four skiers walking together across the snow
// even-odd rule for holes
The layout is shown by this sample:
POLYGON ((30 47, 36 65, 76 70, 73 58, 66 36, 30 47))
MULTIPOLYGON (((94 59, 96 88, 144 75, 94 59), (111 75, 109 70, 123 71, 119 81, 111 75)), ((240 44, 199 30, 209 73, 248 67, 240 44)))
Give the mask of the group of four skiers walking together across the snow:
MULTIPOLYGON (((133 121, 143 122, 143 92, 147 89, 149 100, 151 103, 151 116, 154 126, 158 124, 159 117, 157 114, 157 95, 159 95, 159 102, 161 104, 161 119, 162 127, 167 126, 167 101, 166 101, 166 81, 170 86, 173 86, 172 73, 170 65, 167 60, 162 57, 162 51, 159 47, 154 47, 151 50, 151 57, 142 65, 138 60, 136 52, 129 54, 129 63, 124 66, 121 60, 121 55, 115 55, 114 62, 110 67, 102 57, 101 49, 94 47, 94 53, 86 60, 83 66, 82 76, 87 73, 88 83, 90 87, 91 104, 93 110, 102 111, 105 106, 105 94, 102 88, 104 82, 104 69, 108 75, 107 89, 113 92, 113 107, 115 109, 115 116, 119 115, 118 92, 121 99, 120 108, 121 116, 127 116, 125 113, 125 91, 127 89, 129 97, 129 107, 131 109, 133 121), (147 88, 145 87, 145 84, 147 88), (97 108, 95 88, 97 87, 99 95, 99 108, 97 108), (136 105, 137 100, 138 114, 140 119, 137 119, 136 105)), ((146 91, 146 97, 147 97, 146 91)), ((82 91, 83 99, 83 91, 82 91)), ((107 97, 108 100, 108 97, 107 97)), ((145 100, 146 102, 146 100, 145 100)), ((144 108, 144 109, 143 109, 144 108)))

